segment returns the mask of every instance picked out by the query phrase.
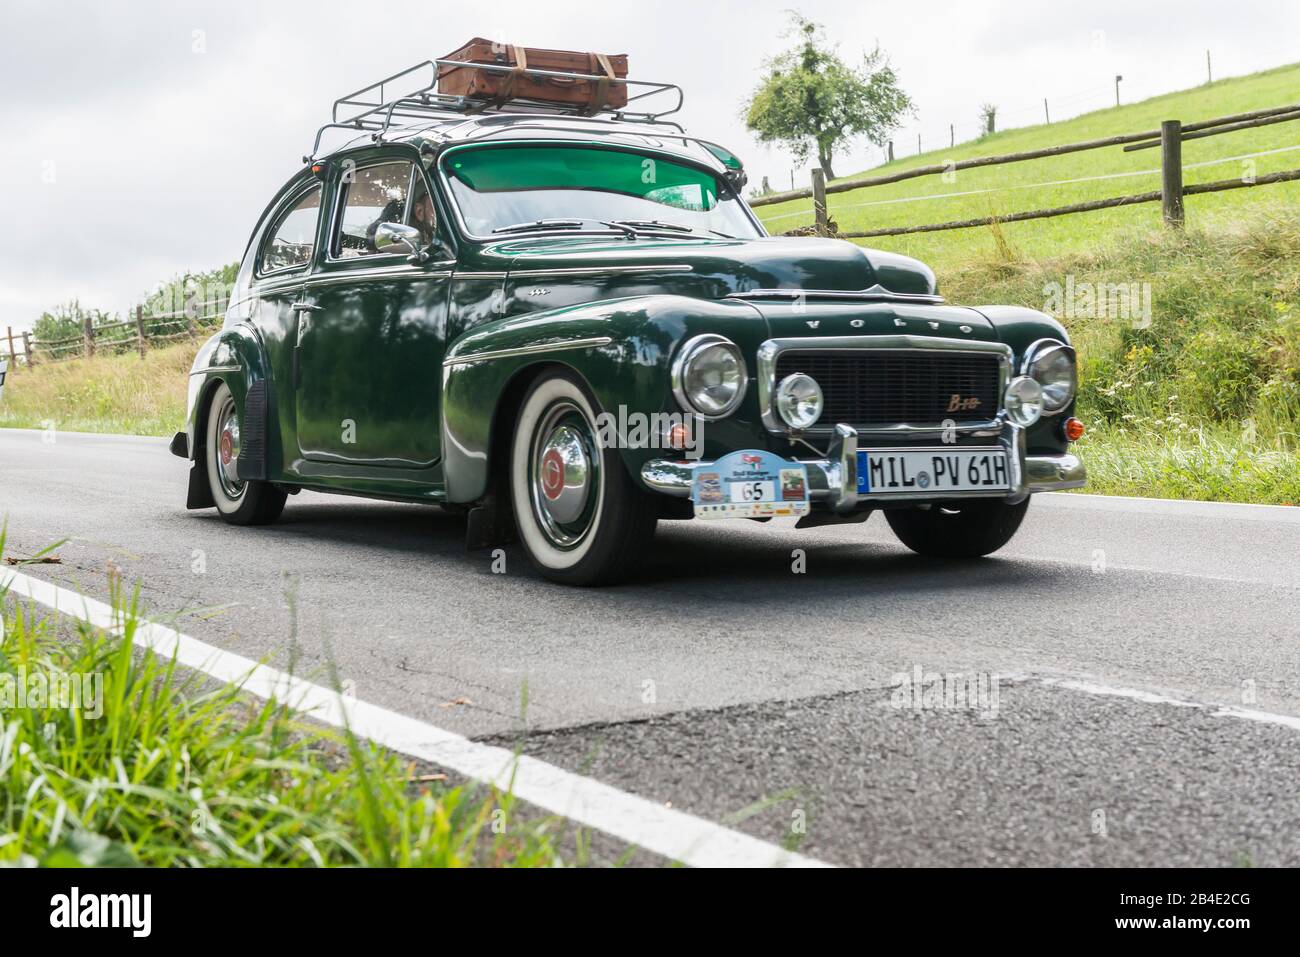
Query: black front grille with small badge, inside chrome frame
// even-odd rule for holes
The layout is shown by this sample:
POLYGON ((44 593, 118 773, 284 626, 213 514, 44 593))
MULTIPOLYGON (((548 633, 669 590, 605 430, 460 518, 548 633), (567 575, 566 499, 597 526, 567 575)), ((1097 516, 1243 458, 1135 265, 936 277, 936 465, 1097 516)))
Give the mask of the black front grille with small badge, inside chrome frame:
MULTIPOLYGON (((826 407, 822 425, 857 428, 989 421, 997 415, 996 355, 945 350, 789 350, 776 359, 776 382, 793 372, 812 376, 826 407)), ((775 385, 775 384, 774 384, 775 385)))

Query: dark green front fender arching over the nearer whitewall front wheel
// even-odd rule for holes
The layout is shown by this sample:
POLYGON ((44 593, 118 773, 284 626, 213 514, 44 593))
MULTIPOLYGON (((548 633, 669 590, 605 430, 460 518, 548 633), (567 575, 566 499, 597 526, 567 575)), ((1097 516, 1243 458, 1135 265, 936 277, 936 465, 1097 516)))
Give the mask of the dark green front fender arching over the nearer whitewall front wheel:
MULTIPOLYGON (((473 502, 488 492, 494 452, 507 447, 521 386, 545 365, 576 372, 601 411, 614 416, 681 412, 668 367, 677 346, 699 333, 725 335, 755 355, 767 335, 759 312, 741 302, 681 295, 608 299, 499 319, 474 326, 447 351, 442 368, 442 447, 450 502, 473 502), (504 407, 503 407, 504 406, 504 407)), ((750 369, 750 376, 754 369, 750 369)), ((718 449, 753 443, 759 423, 757 390, 741 408, 705 434, 718 449)), ((641 464, 660 449, 620 447, 624 464, 641 464)))

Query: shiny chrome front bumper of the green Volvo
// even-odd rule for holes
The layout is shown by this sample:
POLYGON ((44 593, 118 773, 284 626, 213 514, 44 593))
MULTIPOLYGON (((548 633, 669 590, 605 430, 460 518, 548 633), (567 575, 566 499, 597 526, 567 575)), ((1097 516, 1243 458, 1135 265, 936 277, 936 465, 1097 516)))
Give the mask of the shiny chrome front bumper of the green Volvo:
MULTIPOLYGON (((997 439, 1008 452, 1011 488, 989 492, 953 492, 942 498, 1004 498, 1014 505, 1035 492, 1078 489, 1087 481, 1087 471, 1078 455, 1026 455, 1024 430, 1006 424, 997 439)), ((858 432, 850 425, 836 425, 835 439, 824 459, 800 459, 809 471, 809 498, 824 502, 833 511, 849 512, 859 505, 875 501, 900 502, 907 499, 933 499, 933 493, 890 493, 884 495, 858 493, 858 432)), ((690 486, 697 465, 711 465, 712 460, 651 459, 641 467, 641 481, 651 492, 680 498, 690 497, 690 486)))

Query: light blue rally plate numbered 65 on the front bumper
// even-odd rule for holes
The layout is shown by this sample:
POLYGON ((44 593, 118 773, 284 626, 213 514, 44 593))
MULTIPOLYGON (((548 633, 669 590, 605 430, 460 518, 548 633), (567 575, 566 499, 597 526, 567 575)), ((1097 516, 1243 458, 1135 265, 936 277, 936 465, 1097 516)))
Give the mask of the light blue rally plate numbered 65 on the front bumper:
POLYGON ((701 519, 805 515, 807 468, 759 449, 746 449, 697 467, 690 499, 696 518, 701 519))

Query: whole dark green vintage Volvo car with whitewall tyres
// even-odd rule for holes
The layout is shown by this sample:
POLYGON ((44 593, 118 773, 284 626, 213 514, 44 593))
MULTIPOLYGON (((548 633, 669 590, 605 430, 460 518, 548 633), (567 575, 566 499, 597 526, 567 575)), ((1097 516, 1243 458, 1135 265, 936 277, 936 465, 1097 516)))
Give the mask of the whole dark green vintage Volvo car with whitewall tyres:
POLYGON ((597 584, 662 519, 879 510, 920 554, 978 557, 1032 493, 1084 484, 1052 317, 767 235, 741 163, 663 113, 384 88, 335 104, 252 231, 172 445, 190 508, 437 503, 471 547, 517 537, 542 575, 597 584), (337 130, 355 138, 322 150, 337 130))

